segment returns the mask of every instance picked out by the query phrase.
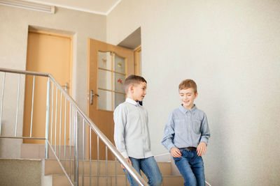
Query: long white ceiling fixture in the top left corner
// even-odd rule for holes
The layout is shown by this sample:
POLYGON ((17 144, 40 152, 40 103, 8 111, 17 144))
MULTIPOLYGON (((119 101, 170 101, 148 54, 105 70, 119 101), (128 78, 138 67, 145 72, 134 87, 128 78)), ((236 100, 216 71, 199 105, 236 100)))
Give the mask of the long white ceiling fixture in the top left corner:
POLYGON ((24 8, 27 10, 36 10, 43 13, 55 13, 55 6, 43 5, 40 3, 31 3, 20 0, 0 0, 0 5, 13 6, 16 8, 24 8))

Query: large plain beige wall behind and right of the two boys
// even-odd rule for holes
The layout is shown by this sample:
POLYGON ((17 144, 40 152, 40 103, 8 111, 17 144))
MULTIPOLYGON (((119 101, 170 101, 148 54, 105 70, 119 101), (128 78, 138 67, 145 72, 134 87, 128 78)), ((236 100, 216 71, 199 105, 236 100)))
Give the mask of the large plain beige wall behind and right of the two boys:
POLYGON ((141 26, 142 75, 155 155, 177 86, 195 79, 211 139, 211 185, 280 185, 279 1, 123 0, 107 17, 118 44, 141 26), (162 131, 162 132, 158 132, 162 131))

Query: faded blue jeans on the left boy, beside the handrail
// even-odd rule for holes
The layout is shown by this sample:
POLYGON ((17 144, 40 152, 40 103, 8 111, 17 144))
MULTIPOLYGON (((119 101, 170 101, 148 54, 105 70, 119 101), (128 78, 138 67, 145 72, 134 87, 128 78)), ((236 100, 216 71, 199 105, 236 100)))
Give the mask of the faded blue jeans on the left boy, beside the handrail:
MULTIPOLYGON (((148 157, 143 159, 136 159, 130 157, 130 161, 132 162, 132 166, 135 169, 135 171, 137 171, 141 175, 141 169, 146 174, 148 178, 148 185, 159 186, 162 183, 162 174, 160 173, 160 169, 158 168, 158 164, 157 162, 155 162, 154 157, 148 157)), ((127 172, 125 169, 123 169, 123 171, 125 171, 125 173, 127 172)), ((130 182, 130 185, 138 185, 134 178, 130 176, 130 173, 128 172, 127 178, 130 182)))

